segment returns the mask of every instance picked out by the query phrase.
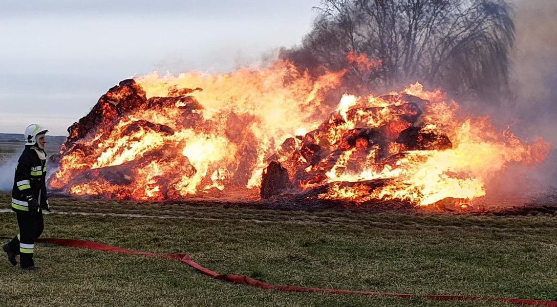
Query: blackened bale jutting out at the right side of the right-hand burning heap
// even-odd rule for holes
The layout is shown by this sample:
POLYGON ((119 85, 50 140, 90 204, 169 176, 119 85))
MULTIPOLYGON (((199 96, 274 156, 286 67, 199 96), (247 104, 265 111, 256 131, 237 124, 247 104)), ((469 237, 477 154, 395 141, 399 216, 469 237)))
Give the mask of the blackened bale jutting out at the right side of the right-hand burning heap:
POLYGON ((406 150, 444 150, 452 148, 446 134, 432 129, 409 127, 400 132, 395 142, 403 144, 406 150))

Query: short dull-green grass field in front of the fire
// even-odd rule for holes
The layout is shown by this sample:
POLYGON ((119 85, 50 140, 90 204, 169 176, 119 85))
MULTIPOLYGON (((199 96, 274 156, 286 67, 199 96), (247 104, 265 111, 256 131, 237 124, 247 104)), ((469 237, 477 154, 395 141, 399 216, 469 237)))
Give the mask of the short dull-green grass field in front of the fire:
MULTIPOLYGON (((8 204, 9 195, 0 194, 8 204)), ((43 236, 189 253, 271 284, 557 300, 557 217, 284 211, 52 199, 43 236), (99 215, 121 213, 129 217, 99 215), (147 215, 148 217, 137 217, 147 215), (165 217, 165 218, 161 218, 165 217)), ((6 205, 7 207, 7 205, 6 205)), ((0 213, 0 235, 17 232, 0 213)), ((210 279, 174 260, 38 244, 29 273, 0 261, 0 305, 501 306, 283 293, 210 279), (37 303, 39 302, 39 303, 37 303)))

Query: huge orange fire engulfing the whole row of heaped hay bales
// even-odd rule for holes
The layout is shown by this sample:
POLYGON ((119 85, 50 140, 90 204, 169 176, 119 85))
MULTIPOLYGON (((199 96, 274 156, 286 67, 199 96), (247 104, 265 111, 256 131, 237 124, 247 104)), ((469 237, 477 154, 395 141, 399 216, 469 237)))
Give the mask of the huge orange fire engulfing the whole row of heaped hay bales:
POLYGON ((50 187, 135 200, 315 190, 320 199, 429 205, 482 197, 507 165, 536 165, 549 152, 488 118, 457 117, 456 102, 419 83, 339 101, 350 90, 345 73, 315 77, 276 62, 124 80, 70 127, 50 187))

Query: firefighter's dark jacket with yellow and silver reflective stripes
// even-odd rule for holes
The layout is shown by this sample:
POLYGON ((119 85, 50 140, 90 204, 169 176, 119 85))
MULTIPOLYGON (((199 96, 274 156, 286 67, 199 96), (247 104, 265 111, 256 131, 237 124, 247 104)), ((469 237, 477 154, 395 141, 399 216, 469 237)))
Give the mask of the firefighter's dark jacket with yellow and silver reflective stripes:
POLYGON ((12 210, 28 213, 28 201, 31 199, 36 199, 40 208, 48 210, 45 179, 45 151, 27 145, 21 157, 17 160, 16 175, 12 188, 12 210))

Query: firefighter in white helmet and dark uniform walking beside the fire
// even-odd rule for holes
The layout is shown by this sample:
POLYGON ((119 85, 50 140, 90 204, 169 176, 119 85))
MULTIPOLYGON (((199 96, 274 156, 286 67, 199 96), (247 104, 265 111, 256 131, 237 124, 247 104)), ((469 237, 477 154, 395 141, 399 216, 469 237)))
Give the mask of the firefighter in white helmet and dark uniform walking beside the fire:
POLYGON ((47 129, 31 124, 25 129, 25 149, 19 157, 12 188, 12 210, 16 212, 19 234, 3 250, 12 265, 17 265, 19 255, 21 268, 37 270, 33 262, 35 241, 44 228, 42 210, 50 211, 46 195, 45 134, 47 129))

